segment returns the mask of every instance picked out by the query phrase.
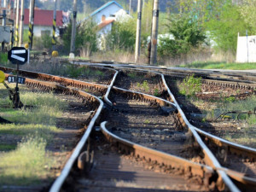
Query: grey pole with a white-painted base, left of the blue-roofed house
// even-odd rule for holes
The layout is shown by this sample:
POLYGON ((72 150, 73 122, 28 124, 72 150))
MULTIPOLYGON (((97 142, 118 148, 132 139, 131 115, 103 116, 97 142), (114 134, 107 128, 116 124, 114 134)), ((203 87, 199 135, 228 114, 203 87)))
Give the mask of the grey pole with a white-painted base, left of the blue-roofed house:
POLYGON ((75 38, 76 38, 76 23, 77 23, 77 0, 73 0, 73 23, 69 58, 74 58, 75 38))

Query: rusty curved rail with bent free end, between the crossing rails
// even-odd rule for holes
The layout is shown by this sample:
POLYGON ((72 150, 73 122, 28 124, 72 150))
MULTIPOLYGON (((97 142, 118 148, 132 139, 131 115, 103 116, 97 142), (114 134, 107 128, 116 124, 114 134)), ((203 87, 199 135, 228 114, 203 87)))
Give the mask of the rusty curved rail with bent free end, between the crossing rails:
POLYGON ((115 145, 122 152, 125 152, 125 154, 131 154, 135 157, 148 160, 149 162, 155 161, 162 166, 175 166, 181 168, 184 172, 189 172, 193 176, 200 176, 201 178, 205 178, 204 182, 207 184, 209 184, 209 178, 214 175, 211 166, 194 163, 172 154, 166 154, 165 152, 160 152, 153 148, 147 148, 137 143, 132 143, 109 132, 106 128, 106 124, 107 121, 101 123, 101 130, 103 135, 108 139, 108 141, 115 143, 115 145))

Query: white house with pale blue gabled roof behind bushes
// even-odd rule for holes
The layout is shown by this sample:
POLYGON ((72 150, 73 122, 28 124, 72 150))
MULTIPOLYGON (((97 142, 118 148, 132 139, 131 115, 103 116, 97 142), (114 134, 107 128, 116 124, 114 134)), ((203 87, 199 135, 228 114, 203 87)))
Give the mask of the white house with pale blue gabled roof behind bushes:
POLYGON ((90 17, 99 27, 99 31, 97 32, 97 35, 100 37, 98 39, 99 49, 105 49, 104 42, 106 42, 106 35, 111 31, 115 20, 126 20, 127 18, 131 18, 125 9, 115 1, 105 3, 102 7, 92 12, 90 17))

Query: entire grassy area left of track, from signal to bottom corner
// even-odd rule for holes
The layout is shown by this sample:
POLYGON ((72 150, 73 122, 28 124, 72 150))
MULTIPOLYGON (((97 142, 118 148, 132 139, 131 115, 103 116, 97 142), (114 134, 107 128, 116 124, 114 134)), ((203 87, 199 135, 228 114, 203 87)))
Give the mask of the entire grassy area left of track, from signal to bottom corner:
POLYGON ((2 124, 0 128, 1 136, 6 136, 0 144, 0 186, 50 181, 50 167, 55 166, 46 146, 53 141, 54 134, 61 131, 55 126, 56 120, 67 108, 67 102, 53 93, 32 92, 22 85, 20 101, 29 108, 12 108, 8 91, 0 84, 0 116, 15 122, 2 124), (11 144, 10 138, 14 138, 11 144))

